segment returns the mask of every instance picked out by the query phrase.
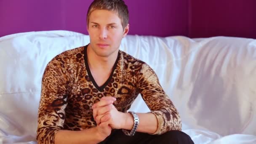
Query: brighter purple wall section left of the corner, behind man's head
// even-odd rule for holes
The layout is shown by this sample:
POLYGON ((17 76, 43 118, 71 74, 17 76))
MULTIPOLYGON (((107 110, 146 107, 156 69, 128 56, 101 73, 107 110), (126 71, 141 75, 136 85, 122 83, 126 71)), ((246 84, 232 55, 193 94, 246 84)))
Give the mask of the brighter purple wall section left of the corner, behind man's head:
MULTIPOLYGON (((0 0, 0 37, 17 32, 70 30, 88 34, 93 0, 0 0)), ((130 35, 188 35, 187 0, 125 0, 130 35)))

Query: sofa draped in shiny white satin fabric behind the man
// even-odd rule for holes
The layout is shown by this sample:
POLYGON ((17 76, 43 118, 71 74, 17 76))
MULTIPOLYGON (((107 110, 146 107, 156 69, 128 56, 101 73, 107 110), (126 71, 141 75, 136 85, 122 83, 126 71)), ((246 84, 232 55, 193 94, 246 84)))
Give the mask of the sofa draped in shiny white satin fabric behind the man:
MULTIPOLYGON (((46 64, 88 43, 70 31, 0 37, 0 144, 36 143, 46 64)), ((155 70, 195 144, 256 144, 256 40, 128 35, 120 50, 155 70)), ((131 109, 149 111, 140 96, 131 109)))

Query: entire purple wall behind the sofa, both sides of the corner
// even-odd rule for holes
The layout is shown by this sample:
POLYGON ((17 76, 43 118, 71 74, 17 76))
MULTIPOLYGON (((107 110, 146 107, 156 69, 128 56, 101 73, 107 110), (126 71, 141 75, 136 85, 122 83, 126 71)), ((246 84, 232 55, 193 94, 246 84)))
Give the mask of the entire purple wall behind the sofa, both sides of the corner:
MULTIPOLYGON (((0 37, 18 32, 86 32, 93 0, 0 0, 0 37)), ((125 0, 130 35, 256 38, 256 0, 125 0)))

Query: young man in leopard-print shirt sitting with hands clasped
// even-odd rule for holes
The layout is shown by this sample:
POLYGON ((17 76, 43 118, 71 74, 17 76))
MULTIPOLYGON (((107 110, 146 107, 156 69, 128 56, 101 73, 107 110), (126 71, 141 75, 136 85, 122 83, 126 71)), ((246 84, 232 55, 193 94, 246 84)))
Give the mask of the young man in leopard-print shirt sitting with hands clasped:
POLYGON ((128 19, 123 0, 90 5, 90 43, 59 54, 45 68, 38 143, 193 143, 155 72, 119 50, 128 19), (151 112, 127 112, 139 93, 151 112))

